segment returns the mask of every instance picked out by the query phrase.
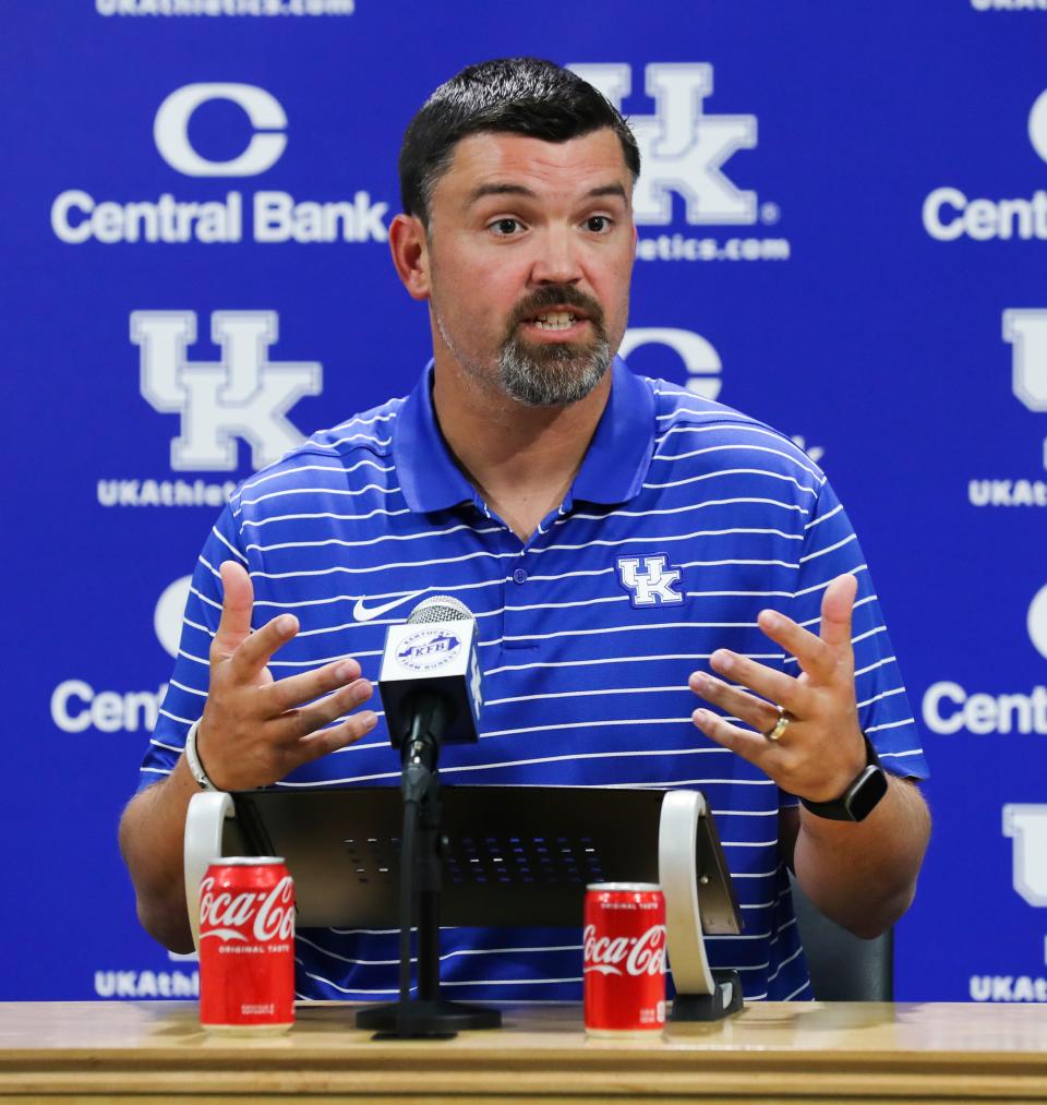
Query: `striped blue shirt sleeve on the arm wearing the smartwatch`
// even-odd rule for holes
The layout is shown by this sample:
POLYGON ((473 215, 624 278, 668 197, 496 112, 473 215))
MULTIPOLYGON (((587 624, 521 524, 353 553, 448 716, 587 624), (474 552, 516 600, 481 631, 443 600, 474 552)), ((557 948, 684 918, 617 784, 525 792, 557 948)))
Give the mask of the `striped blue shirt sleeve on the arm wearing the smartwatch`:
MULTIPOLYGON (((805 527, 793 596, 793 619, 812 633, 817 633, 825 589, 844 572, 853 573, 858 580, 852 643, 861 729, 871 740, 886 770, 926 779, 929 771, 920 735, 869 567, 839 499, 826 482, 805 527)), ((786 659, 785 670, 799 671, 795 657, 786 659)))

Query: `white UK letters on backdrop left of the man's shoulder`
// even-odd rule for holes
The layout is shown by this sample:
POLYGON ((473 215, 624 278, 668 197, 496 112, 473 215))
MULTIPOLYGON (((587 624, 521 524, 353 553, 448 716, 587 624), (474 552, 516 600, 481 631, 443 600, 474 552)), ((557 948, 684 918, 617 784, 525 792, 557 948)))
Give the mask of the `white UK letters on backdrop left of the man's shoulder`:
POLYGON ((131 314, 142 397, 161 413, 181 414, 181 433, 171 441, 172 469, 231 472, 237 439, 251 445, 251 462, 261 469, 302 442, 285 415, 303 396, 320 393, 324 370, 316 361, 269 360, 278 333, 275 311, 215 311, 211 338, 222 359, 191 361, 194 312, 131 314))

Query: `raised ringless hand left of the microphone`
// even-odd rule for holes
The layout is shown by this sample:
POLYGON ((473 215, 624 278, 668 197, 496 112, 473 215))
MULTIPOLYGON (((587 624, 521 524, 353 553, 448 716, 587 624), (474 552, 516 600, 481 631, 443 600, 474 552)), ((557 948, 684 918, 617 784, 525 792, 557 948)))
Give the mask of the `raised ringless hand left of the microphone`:
POLYGON ((251 577, 233 560, 220 572, 222 617, 211 642, 211 683, 197 748, 215 787, 247 790, 276 782, 300 764, 359 740, 377 717, 361 711, 325 729, 371 696, 360 665, 336 660, 274 680, 266 664, 298 632, 298 619, 279 614, 252 632, 251 577))

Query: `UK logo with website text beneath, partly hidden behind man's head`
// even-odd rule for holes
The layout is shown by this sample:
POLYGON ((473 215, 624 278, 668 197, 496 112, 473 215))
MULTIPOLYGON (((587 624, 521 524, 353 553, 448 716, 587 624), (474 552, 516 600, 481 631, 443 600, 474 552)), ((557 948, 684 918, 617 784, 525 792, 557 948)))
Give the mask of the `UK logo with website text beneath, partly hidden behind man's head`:
MULTIPOLYGON (((613 62, 570 66, 599 88, 620 110, 633 92, 633 70, 613 62)), ((643 171, 633 194, 638 227, 669 227, 674 203, 683 206, 687 227, 751 227, 776 223, 773 202, 740 187, 725 162, 757 146, 757 117, 713 114, 712 66, 704 63, 653 62, 644 70, 644 90, 654 101, 652 115, 630 113, 643 171)), ((744 170, 742 170, 744 171, 744 170)), ((789 257, 786 239, 698 238, 685 233, 644 235, 637 242, 641 261, 763 261, 789 257)))

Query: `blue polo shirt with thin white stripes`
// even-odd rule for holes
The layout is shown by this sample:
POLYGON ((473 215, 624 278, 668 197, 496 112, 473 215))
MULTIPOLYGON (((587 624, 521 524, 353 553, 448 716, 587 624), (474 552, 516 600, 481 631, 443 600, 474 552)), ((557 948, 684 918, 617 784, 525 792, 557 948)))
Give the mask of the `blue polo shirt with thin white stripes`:
MULTIPOLYGON (((816 632, 829 580, 854 572, 861 726, 886 768, 926 776, 868 568, 825 476, 775 430, 618 360, 577 478, 521 541, 448 453, 431 385, 432 367, 405 399, 315 434, 237 488, 195 568, 142 785, 171 770, 202 712, 223 560, 251 573, 255 627, 283 611, 300 621, 277 677, 353 656, 376 681, 387 627, 453 594, 478 622, 486 702, 478 744, 444 749, 444 783, 700 789, 744 917, 743 935, 707 938, 711 965, 739 970, 750 1000, 810 998, 779 850, 779 809, 795 799, 695 728, 687 680, 719 648, 796 674, 759 611, 816 632)), ((399 775, 379 714, 361 741, 277 786, 399 775)), ((448 997, 580 999, 579 929, 447 928, 441 949, 448 997)), ((306 929, 296 955, 303 999, 398 992, 395 932, 306 929)))

